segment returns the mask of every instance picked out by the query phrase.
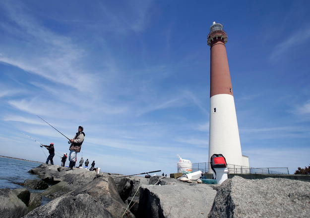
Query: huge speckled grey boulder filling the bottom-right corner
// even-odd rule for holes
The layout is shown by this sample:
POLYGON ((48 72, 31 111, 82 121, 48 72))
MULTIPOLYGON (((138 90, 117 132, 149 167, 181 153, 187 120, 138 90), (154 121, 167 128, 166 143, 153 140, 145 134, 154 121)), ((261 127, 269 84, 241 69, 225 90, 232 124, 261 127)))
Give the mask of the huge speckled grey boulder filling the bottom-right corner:
POLYGON ((310 182, 234 176, 219 187, 209 218, 305 218, 310 215, 310 182))

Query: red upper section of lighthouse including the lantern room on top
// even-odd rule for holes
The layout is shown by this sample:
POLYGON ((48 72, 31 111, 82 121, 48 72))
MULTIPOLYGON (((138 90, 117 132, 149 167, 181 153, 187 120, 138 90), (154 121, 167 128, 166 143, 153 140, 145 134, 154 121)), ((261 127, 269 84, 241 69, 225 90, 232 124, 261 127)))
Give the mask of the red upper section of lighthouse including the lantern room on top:
POLYGON ((222 24, 213 23, 208 35, 210 60, 210 97, 216 94, 233 95, 232 82, 226 54, 227 34, 222 24))

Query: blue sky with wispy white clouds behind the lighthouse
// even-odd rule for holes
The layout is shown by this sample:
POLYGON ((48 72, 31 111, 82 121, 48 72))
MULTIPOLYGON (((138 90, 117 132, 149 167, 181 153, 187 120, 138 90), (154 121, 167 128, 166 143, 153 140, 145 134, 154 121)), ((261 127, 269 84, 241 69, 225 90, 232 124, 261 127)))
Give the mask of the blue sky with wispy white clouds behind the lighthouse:
MULTIPOLYGON (((310 164, 309 0, 1 0, 0 155, 101 172, 177 173, 208 162, 213 21, 226 44, 243 155, 310 164), (53 129, 39 117, 58 131, 53 129), (26 136, 27 134, 28 136, 26 136)), ((159 174, 161 174, 159 173, 159 174)))

